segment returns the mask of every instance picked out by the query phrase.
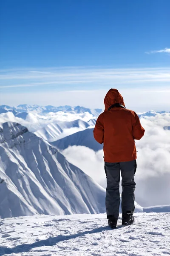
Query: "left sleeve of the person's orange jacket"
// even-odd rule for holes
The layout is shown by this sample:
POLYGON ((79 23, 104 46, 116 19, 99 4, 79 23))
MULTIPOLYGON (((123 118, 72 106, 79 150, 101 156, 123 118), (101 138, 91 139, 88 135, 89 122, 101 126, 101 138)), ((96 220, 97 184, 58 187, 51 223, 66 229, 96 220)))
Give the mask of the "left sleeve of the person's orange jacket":
POLYGON ((94 139, 102 144, 103 143, 103 138, 104 138, 104 127, 103 127, 103 118, 102 115, 99 115, 96 121, 96 125, 94 127, 94 139))

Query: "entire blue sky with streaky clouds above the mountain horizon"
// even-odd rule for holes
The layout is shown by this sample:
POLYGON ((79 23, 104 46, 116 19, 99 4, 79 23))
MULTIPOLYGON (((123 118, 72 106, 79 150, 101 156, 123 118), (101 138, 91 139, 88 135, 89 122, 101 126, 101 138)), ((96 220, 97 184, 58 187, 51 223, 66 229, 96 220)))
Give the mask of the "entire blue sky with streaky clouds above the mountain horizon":
MULTIPOLYGON (((0 5, 0 104, 47 105, 55 94, 59 100, 53 105, 94 107, 82 100, 82 91, 104 93, 110 87, 169 93, 169 0, 1 0, 0 5), (59 93, 70 91, 79 93, 66 102, 59 93)), ((96 107, 101 105, 96 100, 96 107)), ((164 107, 170 108, 159 106, 164 107)))

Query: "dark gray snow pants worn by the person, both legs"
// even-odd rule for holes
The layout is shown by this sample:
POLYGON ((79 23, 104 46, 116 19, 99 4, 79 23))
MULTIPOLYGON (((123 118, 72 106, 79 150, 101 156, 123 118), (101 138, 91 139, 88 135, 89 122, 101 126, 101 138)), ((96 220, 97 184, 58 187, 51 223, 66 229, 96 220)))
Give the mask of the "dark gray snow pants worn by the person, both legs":
POLYGON ((107 177, 106 188, 106 212, 107 218, 119 217, 120 205, 120 171, 122 175, 122 215, 132 213, 135 209, 135 181, 136 160, 120 163, 105 162, 105 173, 107 177))

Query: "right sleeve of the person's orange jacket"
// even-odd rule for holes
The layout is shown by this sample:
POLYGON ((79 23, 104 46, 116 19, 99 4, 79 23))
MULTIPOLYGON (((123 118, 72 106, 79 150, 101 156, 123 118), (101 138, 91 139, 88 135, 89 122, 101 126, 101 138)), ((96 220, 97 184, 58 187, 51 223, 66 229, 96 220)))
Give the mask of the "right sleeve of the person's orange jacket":
POLYGON ((140 140, 144 136, 144 128, 142 127, 139 116, 134 112, 132 136, 134 140, 140 140))

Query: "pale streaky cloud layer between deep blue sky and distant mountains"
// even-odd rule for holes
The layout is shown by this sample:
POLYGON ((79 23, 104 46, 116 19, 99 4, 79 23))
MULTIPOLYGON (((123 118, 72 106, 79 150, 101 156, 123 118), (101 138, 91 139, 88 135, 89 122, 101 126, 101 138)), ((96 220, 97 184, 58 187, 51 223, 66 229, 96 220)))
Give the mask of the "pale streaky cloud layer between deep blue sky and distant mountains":
POLYGON ((0 104, 83 105, 104 108, 105 94, 110 88, 117 88, 125 98, 127 108, 135 111, 170 108, 169 67, 0 70, 0 79, 0 104))

